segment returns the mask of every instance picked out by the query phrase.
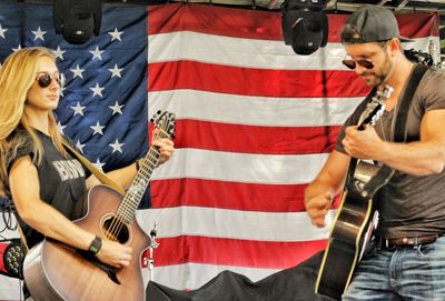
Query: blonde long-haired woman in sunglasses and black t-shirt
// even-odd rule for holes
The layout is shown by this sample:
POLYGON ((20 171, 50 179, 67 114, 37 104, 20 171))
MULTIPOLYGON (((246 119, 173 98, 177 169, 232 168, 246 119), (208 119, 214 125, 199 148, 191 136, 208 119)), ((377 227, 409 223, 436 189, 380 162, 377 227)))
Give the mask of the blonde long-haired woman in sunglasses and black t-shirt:
MULTIPOLYGON (((63 168, 81 164, 63 149, 52 113, 62 84, 55 56, 46 48, 19 50, 0 68, 0 190, 13 200, 29 248, 48 237, 91 250, 96 235, 71 220, 80 218, 73 215, 75 207, 98 180, 83 168, 63 178, 63 168)), ((171 157, 171 140, 154 144, 161 162, 171 157)), ((136 171, 134 163, 108 175, 127 188, 136 171)), ((118 242, 103 240, 99 249, 97 258, 112 267, 131 260, 131 248, 118 242)))

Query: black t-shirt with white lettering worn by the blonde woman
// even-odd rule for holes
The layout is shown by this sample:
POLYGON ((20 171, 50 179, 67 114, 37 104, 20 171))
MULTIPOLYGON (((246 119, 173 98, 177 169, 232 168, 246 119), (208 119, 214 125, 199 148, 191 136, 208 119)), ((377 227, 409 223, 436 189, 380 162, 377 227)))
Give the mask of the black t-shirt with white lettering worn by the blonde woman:
MULTIPOLYGON (((40 198, 70 220, 81 218, 75 212, 87 190, 86 177, 89 177, 90 172, 73 157, 63 158, 55 147, 51 137, 40 131, 36 131, 36 133, 43 147, 42 161, 40 164, 36 164, 40 182, 40 198)), ((29 154, 33 158, 31 138, 23 130, 19 134, 26 137, 24 143, 19 147, 13 158, 9 158, 9 167, 20 157, 29 154)), ((22 187, 21 189, 27 188, 22 187)), ((19 221, 29 248, 43 240, 41 233, 30 228, 20 218, 19 221)))

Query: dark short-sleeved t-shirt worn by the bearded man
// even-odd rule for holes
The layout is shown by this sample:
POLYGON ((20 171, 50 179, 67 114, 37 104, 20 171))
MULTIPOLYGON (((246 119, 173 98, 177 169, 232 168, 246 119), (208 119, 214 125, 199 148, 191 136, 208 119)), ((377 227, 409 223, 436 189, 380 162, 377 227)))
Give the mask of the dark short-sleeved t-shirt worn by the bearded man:
MULTIPOLYGON (((365 104, 360 103, 345 122, 337 140, 337 151, 346 153, 342 146, 345 128, 357 124, 365 104)), ((413 96, 407 120, 407 141, 419 140, 422 118, 427 111, 444 109, 445 72, 428 70, 413 96)), ((397 109, 384 111, 376 121, 374 128, 382 139, 393 141, 396 114, 397 109)), ((375 198, 380 217, 377 234, 384 238, 403 238, 445 233, 444 191, 445 170, 425 177, 396 170, 389 183, 383 187, 375 198)))

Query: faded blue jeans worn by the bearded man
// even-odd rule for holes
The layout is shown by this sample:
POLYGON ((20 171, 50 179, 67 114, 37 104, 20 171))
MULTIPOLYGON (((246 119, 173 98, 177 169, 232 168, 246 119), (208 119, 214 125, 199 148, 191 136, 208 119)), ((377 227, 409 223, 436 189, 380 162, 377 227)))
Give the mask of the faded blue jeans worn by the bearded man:
POLYGON ((414 247, 370 245, 342 300, 445 300, 445 237, 414 247))

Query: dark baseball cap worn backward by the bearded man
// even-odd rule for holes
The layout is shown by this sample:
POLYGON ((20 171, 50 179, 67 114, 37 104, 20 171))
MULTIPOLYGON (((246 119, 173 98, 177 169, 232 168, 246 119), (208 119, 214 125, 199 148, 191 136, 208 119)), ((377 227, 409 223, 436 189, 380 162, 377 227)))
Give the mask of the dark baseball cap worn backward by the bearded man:
MULTIPOLYGON (((364 6, 356 10, 346 20, 346 28, 354 28, 359 33, 357 42, 386 41, 398 38, 402 42, 413 40, 402 37, 398 32, 398 24, 394 13, 383 7, 364 6)), ((344 36, 342 33, 342 40, 344 36)))

